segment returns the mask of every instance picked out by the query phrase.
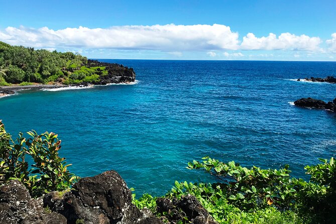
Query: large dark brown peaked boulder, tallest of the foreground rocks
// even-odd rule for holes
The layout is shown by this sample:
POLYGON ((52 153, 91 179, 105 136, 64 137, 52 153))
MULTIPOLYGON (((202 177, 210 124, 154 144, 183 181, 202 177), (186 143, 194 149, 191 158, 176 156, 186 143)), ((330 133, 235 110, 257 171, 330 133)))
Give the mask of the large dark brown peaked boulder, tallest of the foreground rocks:
POLYGON ((94 177, 82 178, 73 190, 59 195, 51 192, 44 205, 61 213, 68 223, 161 224, 160 219, 140 211, 132 204, 132 194, 122 177, 106 171, 94 177))

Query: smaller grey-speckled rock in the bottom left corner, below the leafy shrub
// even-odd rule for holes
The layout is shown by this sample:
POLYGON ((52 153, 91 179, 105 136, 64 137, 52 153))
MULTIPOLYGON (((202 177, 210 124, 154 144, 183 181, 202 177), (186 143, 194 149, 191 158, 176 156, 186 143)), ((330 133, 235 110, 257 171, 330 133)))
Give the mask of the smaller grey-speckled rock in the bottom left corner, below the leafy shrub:
POLYGON ((0 223, 66 224, 66 218, 43 208, 42 198, 33 199, 17 180, 0 187, 0 223))

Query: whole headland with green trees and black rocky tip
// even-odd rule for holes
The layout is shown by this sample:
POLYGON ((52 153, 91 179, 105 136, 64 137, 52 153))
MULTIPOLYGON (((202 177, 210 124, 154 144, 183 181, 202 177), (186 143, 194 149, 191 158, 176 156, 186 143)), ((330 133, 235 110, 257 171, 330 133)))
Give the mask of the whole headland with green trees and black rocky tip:
POLYGON ((87 60, 72 52, 34 50, 0 41, 0 86, 87 85, 135 81, 133 68, 87 60))

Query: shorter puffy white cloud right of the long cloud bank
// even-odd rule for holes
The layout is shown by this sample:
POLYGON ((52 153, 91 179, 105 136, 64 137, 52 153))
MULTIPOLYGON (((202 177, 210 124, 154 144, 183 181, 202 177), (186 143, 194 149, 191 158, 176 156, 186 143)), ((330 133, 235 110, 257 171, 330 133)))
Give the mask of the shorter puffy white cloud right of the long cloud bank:
POLYGON ((241 49, 244 50, 318 50, 321 40, 319 37, 308 37, 306 35, 296 36, 290 33, 283 33, 279 37, 270 33, 267 37, 256 37, 248 33, 243 37, 241 49))

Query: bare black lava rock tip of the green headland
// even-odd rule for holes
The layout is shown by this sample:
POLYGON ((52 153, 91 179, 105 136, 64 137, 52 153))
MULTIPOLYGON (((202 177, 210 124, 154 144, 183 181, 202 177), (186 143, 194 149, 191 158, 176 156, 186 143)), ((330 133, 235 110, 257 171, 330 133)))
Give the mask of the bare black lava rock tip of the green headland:
POLYGON ((136 75, 133 68, 124 67, 123 65, 120 64, 99 62, 96 60, 88 60, 86 66, 87 67, 103 66, 107 70, 107 75, 101 75, 102 74, 101 72, 99 74, 100 80, 93 84, 105 85, 108 83, 129 83, 135 81, 136 75))

